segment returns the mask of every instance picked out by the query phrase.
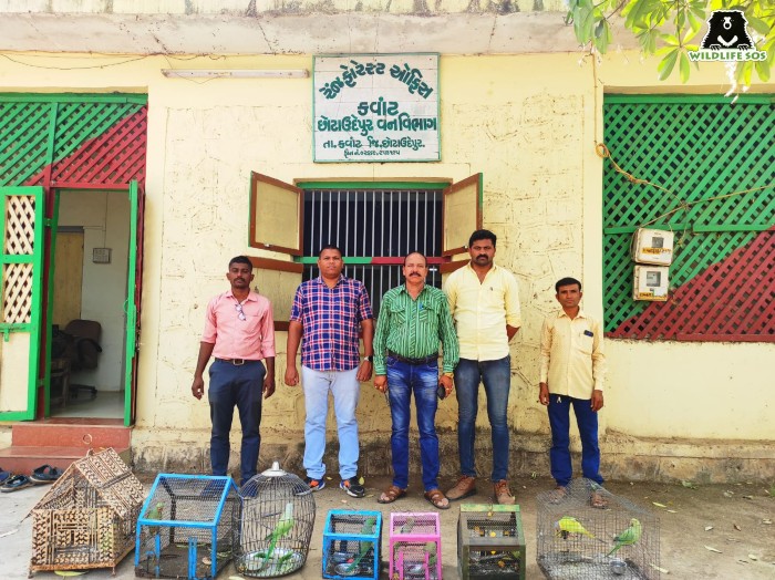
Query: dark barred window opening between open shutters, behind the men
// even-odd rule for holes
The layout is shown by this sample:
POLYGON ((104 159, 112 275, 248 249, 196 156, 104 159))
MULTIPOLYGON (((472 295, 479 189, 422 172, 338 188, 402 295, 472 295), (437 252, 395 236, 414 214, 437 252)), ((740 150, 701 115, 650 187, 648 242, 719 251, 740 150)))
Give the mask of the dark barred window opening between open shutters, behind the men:
POLYGON ((320 248, 338 246, 344 276, 361 280, 374 315, 382 296, 401 283, 403 258, 421 251, 428 258, 426 283, 441 287, 442 188, 306 188, 303 279, 319 276, 320 248))

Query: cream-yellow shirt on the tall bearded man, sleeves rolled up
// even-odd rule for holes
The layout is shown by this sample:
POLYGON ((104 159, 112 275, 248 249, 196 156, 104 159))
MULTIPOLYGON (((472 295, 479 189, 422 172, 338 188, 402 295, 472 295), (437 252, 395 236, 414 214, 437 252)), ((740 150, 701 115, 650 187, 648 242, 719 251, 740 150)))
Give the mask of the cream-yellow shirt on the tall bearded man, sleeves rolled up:
POLYGON ((519 287, 512 272, 496 265, 479 283, 471 262, 444 286, 455 321, 461 359, 497 361, 508 355, 506 324, 521 327, 519 287))

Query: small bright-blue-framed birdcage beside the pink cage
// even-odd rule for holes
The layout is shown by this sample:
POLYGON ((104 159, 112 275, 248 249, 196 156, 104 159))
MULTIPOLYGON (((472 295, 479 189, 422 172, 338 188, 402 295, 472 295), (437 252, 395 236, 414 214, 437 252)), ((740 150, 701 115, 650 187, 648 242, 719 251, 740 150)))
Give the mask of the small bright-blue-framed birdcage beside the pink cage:
POLYGON ((332 509, 323 530, 323 578, 380 578, 382 514, 332 509))

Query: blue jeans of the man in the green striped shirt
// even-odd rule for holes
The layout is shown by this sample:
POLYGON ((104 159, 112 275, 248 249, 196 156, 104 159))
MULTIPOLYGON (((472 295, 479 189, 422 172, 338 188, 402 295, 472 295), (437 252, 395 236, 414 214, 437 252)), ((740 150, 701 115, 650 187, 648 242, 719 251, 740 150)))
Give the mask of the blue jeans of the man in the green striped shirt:
POLYGON ((393 485, 409 486, 409 420, 414 392, 420 431, 420 459, 425 491, 438 488, 438 436, 436 435, 436 389, 438 363, 409 364, 388 358, 388 396, 393 431, 390 447, 393 455, 393 485))

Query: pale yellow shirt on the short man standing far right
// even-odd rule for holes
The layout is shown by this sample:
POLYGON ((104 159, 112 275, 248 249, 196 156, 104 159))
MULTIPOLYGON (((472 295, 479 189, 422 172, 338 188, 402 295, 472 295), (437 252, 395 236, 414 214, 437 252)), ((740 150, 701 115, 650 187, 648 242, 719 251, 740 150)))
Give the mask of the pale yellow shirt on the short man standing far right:
POLYGON ((583 310, 572 320, 562 310, 547 317, 540 360, 540 382, 549 383, 549 393, 592 398, 593 390, 602 391, 606 374, 600 322, 583 310))

